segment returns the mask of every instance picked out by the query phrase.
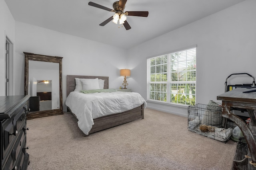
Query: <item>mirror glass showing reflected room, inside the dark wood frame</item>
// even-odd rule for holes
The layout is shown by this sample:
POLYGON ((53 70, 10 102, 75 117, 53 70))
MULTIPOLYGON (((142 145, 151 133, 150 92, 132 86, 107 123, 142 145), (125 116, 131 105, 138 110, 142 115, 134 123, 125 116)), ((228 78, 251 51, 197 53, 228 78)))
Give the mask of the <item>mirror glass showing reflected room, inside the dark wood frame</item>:
POLYGON ((28 63, 28 94, 40 96, 30 99, 30 101, 35 100, 33 102, 39 100, 39 107, 33 111, 58 109, 60 106, 59 64, 44 61, 29 61, 28 63))

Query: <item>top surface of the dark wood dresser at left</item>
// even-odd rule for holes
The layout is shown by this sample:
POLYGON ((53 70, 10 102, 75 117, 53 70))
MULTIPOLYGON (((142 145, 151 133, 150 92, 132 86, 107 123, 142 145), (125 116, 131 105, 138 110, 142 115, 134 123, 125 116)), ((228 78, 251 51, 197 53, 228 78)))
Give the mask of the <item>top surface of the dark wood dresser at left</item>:
POLYGON ((29 95, 20 96, 0 96, 0 119, 8 118, 8 111, 18 105, 20 102, 25 102, 29 99, 29 95))

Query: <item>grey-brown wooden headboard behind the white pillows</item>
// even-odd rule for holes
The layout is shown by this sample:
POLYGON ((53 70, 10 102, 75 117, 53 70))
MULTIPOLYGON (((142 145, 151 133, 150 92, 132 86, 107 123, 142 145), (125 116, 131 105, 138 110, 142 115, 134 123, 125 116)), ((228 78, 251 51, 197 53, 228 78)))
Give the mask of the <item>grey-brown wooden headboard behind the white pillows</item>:
POLYGON ((102 79, 105 80, 104 81, 104 89, 108 89, 108 77, 104 77, 104 76, 76 76, 76 75, 67 75, 67 96, 70 92, 73 92, 76 88, 76 80, 75 78, 98 78, 98 79, 102 79))

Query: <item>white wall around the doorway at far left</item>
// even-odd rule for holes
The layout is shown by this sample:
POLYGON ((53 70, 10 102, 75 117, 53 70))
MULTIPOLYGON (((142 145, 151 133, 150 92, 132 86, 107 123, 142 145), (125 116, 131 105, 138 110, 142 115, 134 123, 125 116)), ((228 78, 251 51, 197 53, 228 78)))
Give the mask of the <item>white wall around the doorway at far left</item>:
POLYGON ((6 36, 14 43, 15 21, 4 0, 0 0, 0 96, 5 96, 6 36))

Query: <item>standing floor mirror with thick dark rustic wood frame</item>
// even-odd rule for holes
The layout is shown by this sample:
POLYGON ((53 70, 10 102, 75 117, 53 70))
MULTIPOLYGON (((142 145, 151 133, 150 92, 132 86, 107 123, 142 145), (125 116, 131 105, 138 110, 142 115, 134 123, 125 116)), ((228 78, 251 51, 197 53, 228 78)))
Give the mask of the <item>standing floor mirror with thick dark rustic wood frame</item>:
POLYGON ((30 95, 27 119, 63 114, 62 58, 23 52, 24 94, 30 95))

